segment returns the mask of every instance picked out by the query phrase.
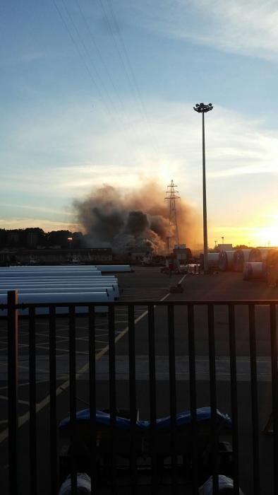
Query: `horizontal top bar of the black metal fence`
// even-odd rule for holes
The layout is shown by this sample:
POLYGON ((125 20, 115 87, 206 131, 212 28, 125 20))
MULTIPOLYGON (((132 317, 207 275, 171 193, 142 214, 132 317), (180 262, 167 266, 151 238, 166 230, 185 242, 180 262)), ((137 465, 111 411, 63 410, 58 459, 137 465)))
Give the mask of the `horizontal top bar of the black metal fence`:
MULTIPOLYGON (((229 301, 105 301, 105 302, 63 302, 63 303, 18 303, 16 309, 28 308, 65 308, 92 306, 207 306, 207 305, 278 305, 278 299, 231 299, 229 301)), ((8 309, 8 304, 0 304, 0 310, 8 309)))

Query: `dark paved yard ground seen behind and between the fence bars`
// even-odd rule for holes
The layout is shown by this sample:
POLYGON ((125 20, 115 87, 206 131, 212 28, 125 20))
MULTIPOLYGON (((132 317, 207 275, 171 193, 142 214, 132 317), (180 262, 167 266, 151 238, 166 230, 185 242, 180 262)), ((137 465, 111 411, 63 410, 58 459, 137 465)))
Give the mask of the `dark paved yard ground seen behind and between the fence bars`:
MULTIPOLYGON (((148 395, 148 333, 147 313, 143 301, 228 301, 263 299, 278 300, 278 289, 267 287, 259 281, 246 282, 241 274, 219 273, 215 275, 173 275, 171 278, 160 273, 159 268, 136 267, 132 274, 119 274, 119 284, 123 293, 121 301, 136 301, 135 308, 135 351, 136 351, 136 397, 141 419, 150 417, 148 395), (169 286, 182 280, 183 293, 169 294, 169 286)), ((258 404, 259 404, 259 441, 261 458, 261 494, 273 494, 272 487, 272 436, 262 433, 271 412, 271 366, 270 366, 270 322, 269 309, 259 305, 255 310, 256 344, 258 368, 258 404)), ((118 407, 128 407, 128 332, 127 309, 116 309, 116 403, 118 407)), ((216 369, 217 369, 217 407, 231 414, 231 390, 229 385, 229 326, 226 305, 214 310, 216 369)), ((188 383, 188 325, 186 307, 175 308, 175 354, 177 410, 189 407, 188 383)), ((83 372, 77 383, 78 409, 87 407, 88 382, 88 327, 87 318, 78 317, 76 321, 77 367, 83 372)), ((107 317, 97 316, 96 321, 96 359, 97 359, 97 407, 109 407, 109 363, 107 349, 107 317)), ((209 361, 208 361, 207 310, 205 306, 195 307, 195 354, 197 373, 198 407, 210 405, 209 361)), ((48 364, 48 322, 38 318, 37 339, 37 459, 39 466, 40 494, 49 494, 49 364, 48 364), (44 405, 45 404, 45 405, 44 405)), ((20 422, 20 494, 28 493, 28 322, 20 321, 19 330, 19 416, 20 422)), ((57 421, 68 415, 68 319, 57 318, 57 421), (59 388, 61 386, 61 388, 59 388)), ((167 311, 164 307, 155 310, 155 353, 157 378, 157 415, 169 414, 169 356, 167 311)), ((236 306, 236 354, 238 378, 238 419, 240 444, 240 482, 245 495, 253 494, 252 435, 251 435, 251 395, 250 395, 250 342, 248 311, 246 307, 236 306)), ((7 371, 6 371, 6 322, 0 320, 0 465, 3 472, 1 493, 8 494, 8 458, 7 458, 7 371)))

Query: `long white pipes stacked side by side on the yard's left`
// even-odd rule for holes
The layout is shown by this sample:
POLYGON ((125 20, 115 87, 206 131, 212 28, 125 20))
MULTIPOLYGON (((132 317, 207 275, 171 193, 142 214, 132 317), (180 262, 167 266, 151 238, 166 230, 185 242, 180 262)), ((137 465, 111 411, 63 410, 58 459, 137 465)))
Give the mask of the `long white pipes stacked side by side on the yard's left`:
MULTIPOLYGON (((96 267, 84 265, 1 268, 0 304, 6 304, 6 293, 12 290, 18 291, 18 303, 97 304, 119 298, 115 276, 102 276, 96 267)), ((96 307, 96 310, 107 311, 107 306, 96 307)), ((84 313, 87 308, 77 306, 75 311, 84 313)), ((37 308, 37 314, 47 312, 47 308, 37 308)), ((56 313, 68 313, 68 308, 56 308, 56 313)))

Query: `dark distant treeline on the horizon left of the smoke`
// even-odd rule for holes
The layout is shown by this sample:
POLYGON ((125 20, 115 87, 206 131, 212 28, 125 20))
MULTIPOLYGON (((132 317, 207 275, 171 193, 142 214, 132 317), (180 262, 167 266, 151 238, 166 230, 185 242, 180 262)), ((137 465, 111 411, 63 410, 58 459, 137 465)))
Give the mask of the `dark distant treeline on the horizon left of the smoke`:
POLYGON ((82 232, 52 231, 44 232, 42 228, 0 228, 0 249, 37 249, 86 248, 85 236, 82 232))

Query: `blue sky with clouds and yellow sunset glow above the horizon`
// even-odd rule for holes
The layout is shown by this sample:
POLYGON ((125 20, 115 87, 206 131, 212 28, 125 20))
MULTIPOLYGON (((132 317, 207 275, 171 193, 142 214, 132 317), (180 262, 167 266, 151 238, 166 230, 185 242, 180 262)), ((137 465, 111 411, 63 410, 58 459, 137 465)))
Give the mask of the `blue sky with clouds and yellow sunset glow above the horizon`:
POLYGON ((209 245, 278 245, 277 1, 9 0, 0 23, 1 228, 154 180, 201 214, 204 102, 209 245))

